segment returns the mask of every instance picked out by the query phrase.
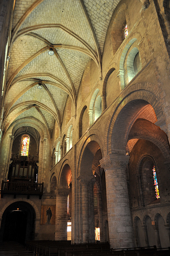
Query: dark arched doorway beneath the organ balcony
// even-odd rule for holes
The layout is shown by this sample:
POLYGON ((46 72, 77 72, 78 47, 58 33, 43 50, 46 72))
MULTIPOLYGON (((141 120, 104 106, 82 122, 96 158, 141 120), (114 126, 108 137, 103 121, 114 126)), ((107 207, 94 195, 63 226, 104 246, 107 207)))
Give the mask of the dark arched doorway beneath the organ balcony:
POLYGON ((34 239, 34 219, 34 208, 27 202, 10 204, 2 215, 0 240, 25 244, 34 239))

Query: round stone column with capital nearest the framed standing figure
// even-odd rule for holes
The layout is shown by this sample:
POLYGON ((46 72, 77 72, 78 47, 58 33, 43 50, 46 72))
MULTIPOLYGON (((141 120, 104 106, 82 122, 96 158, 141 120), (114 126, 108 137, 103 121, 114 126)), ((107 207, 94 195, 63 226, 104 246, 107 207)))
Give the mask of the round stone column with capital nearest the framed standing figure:
POLYGON ((67 197, 69 188, 56 189, 55 240, 67 240, 67 197))

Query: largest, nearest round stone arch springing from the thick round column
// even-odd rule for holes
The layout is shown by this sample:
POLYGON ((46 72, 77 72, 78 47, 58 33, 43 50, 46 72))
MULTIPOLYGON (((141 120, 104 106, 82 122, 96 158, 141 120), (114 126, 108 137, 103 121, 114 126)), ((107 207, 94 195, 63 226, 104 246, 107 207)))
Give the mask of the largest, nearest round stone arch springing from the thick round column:
MULTIPOLYGON (((139 86, 139 84, 136 85, 137 87, 139 86)), ((107 154, 109 152, 113 152, 114 148, 119 149, 120 152, 126 154, 125 141, 130 123, 133 122, 136 115, 148 104, 150 104, 154 109, 157 119, 162 119, 164 114, 160 101, 158 97, 148 91, 147 88, 146 90, 135 90, 134 88, 133 92, 129 92, 127 95, 125 94, 125 96, 122 95, 121 100, 119 102, 115 102, 113 112, 111 112, 107 122, 108 133, 106 135, 107 142, 105 142, 107 144, 107 154), (121 120, 121 122, 119 122, 119 120, 121 120), (122 122, 123 128, 121 125, 122 122)))

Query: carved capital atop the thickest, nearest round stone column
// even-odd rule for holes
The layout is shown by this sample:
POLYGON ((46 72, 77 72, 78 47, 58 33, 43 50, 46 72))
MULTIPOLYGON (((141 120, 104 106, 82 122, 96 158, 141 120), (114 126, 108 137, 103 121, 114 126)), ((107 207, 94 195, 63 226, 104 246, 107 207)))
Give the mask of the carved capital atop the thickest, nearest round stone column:
POLYGON ((125 168, 128 164, 129 157, 129 155, 108 154, 99 162, 101 164, 101 168, 104 170, 111 168, 125 168))

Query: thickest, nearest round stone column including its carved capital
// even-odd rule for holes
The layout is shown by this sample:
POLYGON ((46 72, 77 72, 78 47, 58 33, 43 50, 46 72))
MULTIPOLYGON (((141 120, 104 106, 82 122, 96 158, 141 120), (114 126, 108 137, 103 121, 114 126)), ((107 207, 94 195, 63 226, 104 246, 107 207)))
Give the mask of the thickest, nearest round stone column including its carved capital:
POLYGON ((129 156, 109 154, 99 162, 105 170, 109 240, 113 248, 134 246, 126 166, 129 156))

